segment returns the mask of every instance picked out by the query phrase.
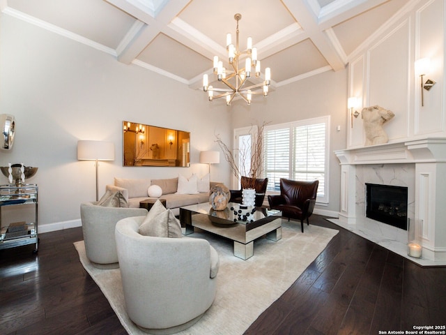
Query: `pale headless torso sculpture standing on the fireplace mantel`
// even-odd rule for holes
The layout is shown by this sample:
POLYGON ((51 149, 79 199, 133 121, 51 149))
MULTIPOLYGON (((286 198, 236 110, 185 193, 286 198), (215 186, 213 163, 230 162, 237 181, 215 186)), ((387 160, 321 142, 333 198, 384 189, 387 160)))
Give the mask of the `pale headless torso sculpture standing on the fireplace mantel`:
POLYGON ((387 143, 389 137, 383 129, 383 124, 394 116, 393 112, 378 105, 363 108, 361 117, 364 120, 365 145, 387 143))

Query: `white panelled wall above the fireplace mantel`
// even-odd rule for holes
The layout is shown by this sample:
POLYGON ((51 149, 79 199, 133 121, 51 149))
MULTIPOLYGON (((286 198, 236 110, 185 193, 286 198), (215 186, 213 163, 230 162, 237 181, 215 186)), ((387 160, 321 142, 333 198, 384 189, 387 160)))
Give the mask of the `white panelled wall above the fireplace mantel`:
MULTIPOLYGON (((349 96, 360 98, 362 107, 380 105, 395 114, 384 125, 389 142, 446 136, 444 17, 443 0, 414 2, 351 61, 349 96), (423 57, 431 59, 424 82, 436 82, 430 91, 424 90, 424 106, 420 77, 414 70, 415 61, 423 57)), ((348 148, 363 147, 364 139, 361 117, 353 119, 348 148)))

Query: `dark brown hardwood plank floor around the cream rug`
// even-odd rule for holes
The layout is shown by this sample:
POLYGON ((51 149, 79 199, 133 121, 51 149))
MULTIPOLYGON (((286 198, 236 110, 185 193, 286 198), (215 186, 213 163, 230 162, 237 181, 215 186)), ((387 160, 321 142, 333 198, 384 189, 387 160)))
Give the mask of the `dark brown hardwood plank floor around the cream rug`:
MULTIPOLYGON (((321 216, 312 224, 339 234, 245 334, 378 334, 446 324, 446 267, 419 267, 321 216)), ((33 246, 0 251, 0 334, 126 334, 79 262, 72 243, 81 239, 81 228, 72 228, 40 234, 38 255, 33 246)))

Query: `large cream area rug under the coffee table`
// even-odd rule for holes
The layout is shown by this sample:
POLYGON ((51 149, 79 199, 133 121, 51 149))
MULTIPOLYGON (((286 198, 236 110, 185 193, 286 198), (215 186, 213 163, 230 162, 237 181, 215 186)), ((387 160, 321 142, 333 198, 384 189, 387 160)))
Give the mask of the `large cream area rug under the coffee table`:
MULTIPOLYGON (((254 256, 241 260, 233 255, 233 242, 206 232, 190 237, 207 239, 220 256, 217 295, 203 317, 181 335, 243 334, 259 315, 277 300, 323 251, 337 230, 300 224, 282 223, 282 239, 265 238, 254 242, 254 256)), ((125 313, 125 302, 119 269, 96 269, 85 255, 84 241, 75 242, 80 261, 99 288, 123 327, 129 334, 146 334, 125 313)), ((185 283, 185 290, 187 284, 185 283)), ((148 302, 149 303, 149 302, 148 302)))

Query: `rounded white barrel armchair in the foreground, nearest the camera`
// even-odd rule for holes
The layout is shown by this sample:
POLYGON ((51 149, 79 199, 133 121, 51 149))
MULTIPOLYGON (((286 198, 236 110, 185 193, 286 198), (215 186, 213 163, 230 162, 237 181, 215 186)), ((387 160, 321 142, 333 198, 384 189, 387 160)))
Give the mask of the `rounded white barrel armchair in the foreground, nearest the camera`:
POLYGON ((218 254, 205 239, 141 235, 144 218, 116 224, 127 313, 144 332, 180 332, 197 322, 214 301, 218 254))

